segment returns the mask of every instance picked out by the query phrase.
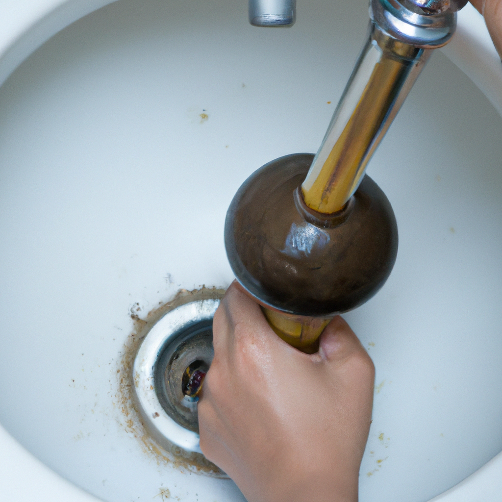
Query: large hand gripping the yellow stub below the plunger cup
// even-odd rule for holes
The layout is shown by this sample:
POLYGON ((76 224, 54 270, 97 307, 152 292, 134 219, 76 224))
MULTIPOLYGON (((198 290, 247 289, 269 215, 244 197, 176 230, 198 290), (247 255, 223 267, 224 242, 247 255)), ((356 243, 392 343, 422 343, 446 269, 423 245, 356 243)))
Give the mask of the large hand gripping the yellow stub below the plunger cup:
POLYGON ((249 502, 356 501, 374 367, 347 323, 335 317, 305 354, 234 282, 213 344, 198 404, 204 455, 249 502))

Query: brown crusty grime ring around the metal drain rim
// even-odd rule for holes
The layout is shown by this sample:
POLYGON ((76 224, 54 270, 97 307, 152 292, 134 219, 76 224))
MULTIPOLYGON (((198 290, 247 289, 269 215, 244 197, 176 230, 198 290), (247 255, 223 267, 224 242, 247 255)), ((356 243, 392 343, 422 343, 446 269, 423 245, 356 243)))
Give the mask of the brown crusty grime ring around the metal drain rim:
MULTIPOLYGON (((115 373, 118 379, 118 391, 115 395, 114 405, 124 417, 123 426, 126 432, 140 441, 145 454, 155 459, 158 465, 170 464, 181 471, 203 473, 213 477, 227 476, 219 467, 207 460, 200 453, 187 452, 175 445, 172 445, 170 451, 167 451, 157 444, 149 434, 141 415, 137 411, 136 393, 133 389, 133 365, 141 342, 161 317, 180 305, 197 300, 221 299, 224 294, 224 289, 206 288, 205 286, 193 291, 181 289, 173 300, 159 304, 145 318, 138 316, 136 312, 139 311, 136 309, 139 307, 139 304, 135 304, 130 312, 130 316, 134 320, 134 328, 124 343, 122 357, 118 362, 118 369, 115 373)), ((137 385, 136 382, 135 385, 137 385)), ((169 493, 168 490, 166 492, 169 493)), ((165 495, 162 495, 162 498, 164 499, 165 495)))

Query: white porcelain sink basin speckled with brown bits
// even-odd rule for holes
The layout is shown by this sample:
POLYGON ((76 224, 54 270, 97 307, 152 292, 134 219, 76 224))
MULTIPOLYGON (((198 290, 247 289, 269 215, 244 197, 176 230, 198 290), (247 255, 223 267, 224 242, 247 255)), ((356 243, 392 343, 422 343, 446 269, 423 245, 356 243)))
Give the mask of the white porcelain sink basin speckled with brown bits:
MULTIPOLYGON (((230 284, 228 204, 261 165, 317 150, 367 6, 299 3, 293 28, 267 30, 244 2, 104 4, 28 2, 2 42, 0 493, 240 501, 144 436, 124 354, 178 290, 230 284)), ((486 95, 437 51, 368 168, 400 247, 345 315, 376 366, 361 502, 429 500, 502 449, 502 80, 479 70, 492 48, 469 62, 461 43, 446 53, 486 95)), ((500 478, 496 457, 440 498, 494 501, 500 478)))

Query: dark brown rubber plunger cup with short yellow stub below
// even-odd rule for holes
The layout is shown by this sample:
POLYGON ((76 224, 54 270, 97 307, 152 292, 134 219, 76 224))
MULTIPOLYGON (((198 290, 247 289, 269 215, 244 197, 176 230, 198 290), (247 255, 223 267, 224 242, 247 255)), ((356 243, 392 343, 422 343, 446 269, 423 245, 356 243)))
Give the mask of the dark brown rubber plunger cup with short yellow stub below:
POLYGON ((225 221, 238 282, 281 338, 309 352, 330 319, 383 286, 398 249, 391 204, 368 176, 340 211, 319 213, 305 204, 300 186, 313 158, 288 155, 253 173, 225 221))

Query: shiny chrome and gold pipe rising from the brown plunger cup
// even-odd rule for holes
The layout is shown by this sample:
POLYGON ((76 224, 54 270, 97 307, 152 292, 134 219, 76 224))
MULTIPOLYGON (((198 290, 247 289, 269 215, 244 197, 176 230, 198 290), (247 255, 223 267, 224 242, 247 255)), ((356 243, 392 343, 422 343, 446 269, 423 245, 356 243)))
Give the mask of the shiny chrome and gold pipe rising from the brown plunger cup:
POLYGON ((315 211, 343 208, 433 49, 465 0, 370 0, 369 35, 302 184, 315 211))

